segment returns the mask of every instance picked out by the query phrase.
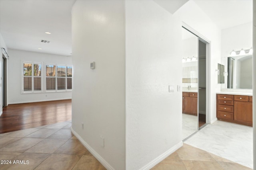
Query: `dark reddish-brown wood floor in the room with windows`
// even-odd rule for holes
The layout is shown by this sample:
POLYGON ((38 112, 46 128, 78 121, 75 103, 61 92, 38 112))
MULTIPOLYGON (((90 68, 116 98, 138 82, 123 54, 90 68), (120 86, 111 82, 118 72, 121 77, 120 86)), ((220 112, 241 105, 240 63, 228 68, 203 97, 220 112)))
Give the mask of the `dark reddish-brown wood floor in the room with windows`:
POLYGON ((4 107, 0 117, 0 134, 71 120, 71 99, 4 107))

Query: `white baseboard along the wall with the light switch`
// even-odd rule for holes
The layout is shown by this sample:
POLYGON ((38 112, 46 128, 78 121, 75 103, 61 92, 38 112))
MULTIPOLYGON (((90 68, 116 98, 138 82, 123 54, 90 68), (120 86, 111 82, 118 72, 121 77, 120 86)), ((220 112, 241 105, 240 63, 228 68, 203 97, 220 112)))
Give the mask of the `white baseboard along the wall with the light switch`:
POLYGON ((172 147, 171 149, 167 150, 166 152, 164 152, 163 154, 161 154, 160 156, 158 156, 157 158, 155 158, 154 160, 152 160, 151 162, 149 162, 148 164, 146 164, 145 166, 140 168, 140 170, 149 170, 149 169, 153 168, 156 164, 160 163, 167 156, 169 156, 170 154, 175 152, 177 149, 182 147, 182 145, 183 145, 182 141, 177 143, 176 145, 174 145, 174 147, 172 147))

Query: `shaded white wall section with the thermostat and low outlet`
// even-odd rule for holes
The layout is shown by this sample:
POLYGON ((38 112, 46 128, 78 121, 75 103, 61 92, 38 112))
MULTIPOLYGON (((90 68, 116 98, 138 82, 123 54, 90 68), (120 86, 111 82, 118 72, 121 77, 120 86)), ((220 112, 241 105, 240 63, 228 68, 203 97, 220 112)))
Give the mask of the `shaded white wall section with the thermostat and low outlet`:
POLYGON ((125 169, 124 1, 72 8, 72 131, 108 169, 125 169), (90 62, 95 69, 90 69, 90 62), (82 129, 84 123, 84 129, 82 129), (101 146, 101 138, 105 146, 101 146))

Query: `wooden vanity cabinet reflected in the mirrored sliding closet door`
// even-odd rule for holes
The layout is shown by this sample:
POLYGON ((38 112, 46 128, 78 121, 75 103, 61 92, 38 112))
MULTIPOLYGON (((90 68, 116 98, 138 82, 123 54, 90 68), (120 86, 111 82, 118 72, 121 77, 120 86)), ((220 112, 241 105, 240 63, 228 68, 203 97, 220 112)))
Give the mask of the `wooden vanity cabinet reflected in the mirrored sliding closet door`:
POLYGON ((182 113, 197 115, 197 93, 182 92, 182 113))

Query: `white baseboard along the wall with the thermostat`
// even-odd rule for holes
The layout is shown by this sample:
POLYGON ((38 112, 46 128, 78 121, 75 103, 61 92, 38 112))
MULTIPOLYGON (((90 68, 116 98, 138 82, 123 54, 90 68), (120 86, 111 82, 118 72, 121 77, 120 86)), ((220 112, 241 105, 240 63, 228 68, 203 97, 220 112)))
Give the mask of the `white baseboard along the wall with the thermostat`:
POLYGON ((76 133, 76 131, 74 131, 74 129, 71 127, 70 128, 72 133, 76 136, 76 138, 84 145, 84 147, 86 147, 86 149, 88 149, 91 154, 98 160, 100 161, 100 163, 107 169, 107 170, 115 170, 106 160, 104 160, 104 158, 102 158, 100 156, 100 154, 98 154, 94 149, 92 149, 92 147, 90 147, 90 145, 88 143, 86 143, 86 141, 84 141, 84 139, 82 139, 82 137, 80 137, 80 135, 78 135, 78 133, 76 133))

